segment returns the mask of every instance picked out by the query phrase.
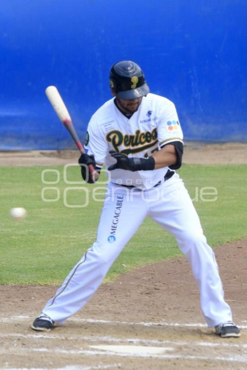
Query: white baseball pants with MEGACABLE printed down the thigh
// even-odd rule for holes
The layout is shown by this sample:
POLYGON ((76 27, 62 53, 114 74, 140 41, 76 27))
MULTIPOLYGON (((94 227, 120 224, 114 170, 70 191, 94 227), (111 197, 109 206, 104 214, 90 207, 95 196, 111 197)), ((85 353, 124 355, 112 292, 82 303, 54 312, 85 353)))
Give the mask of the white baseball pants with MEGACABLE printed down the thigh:
POLYGON ((123 247, 146 216, 150 216, 175 236, 178 247, 190 262, 208 327, 232 320, 231 309, 224 301, 213 250, 207 245, 196 210, 179 176, 175 174, 163 184, 143 192, 111 183, 107 189, 96 241, 47 302, 43 312, 53 321, 63 323, 83 307, 123 247))

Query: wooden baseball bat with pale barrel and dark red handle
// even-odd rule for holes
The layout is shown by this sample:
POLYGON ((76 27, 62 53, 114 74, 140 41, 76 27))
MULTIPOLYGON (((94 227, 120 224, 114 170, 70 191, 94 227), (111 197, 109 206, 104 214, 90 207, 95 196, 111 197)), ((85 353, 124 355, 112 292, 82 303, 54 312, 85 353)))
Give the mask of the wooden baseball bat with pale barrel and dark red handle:
MULTIPOLYGON (((70 114, 66 108, 66 105, 59 94, 59 91, 55 86, 48 86, 46 88, 46 96, 49 99, 51 105, 53 106, 54 111, 56 112, 59 119, 63 122, 64 126, 69 131, 71 137, 73 138, 74 142, 76 143, 77 148, 79 149, 81 154, 85 154, 85 149, 81 144, 81 141, 77 135, 77 132, 74 128, 73 122, 71 120, 70 114)), ((95 171, 93 165, 89 165, 89 173, 94 181, 99 178, 99 174, 95 171)))

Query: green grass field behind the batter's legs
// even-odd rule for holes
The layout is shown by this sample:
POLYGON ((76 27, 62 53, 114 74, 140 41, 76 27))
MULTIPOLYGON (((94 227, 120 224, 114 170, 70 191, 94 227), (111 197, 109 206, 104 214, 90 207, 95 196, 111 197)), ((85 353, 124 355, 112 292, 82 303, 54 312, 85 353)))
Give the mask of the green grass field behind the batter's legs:
MULTIPOLYGON (((41 172, 47 167, 1 167, 0 209, 0 284, 59 284, 94 242, 102 203, 93 202, 90 190, 90 206, 67 208, 63 204, 63 166, 53 166, 60 172, 59 184, 42 184, 41 172), (60 200, 44 202, 41 191, 44 186, 60 190, 60 200), (12 207, 25 207, 28 216, 13 221, 9 216, 12 207)), ((70 181, 80 181, 78 168, 68 170, 70 181)), ((246 199, 247 165, 202 166, 183 165, 178 171, 184 179, 191 198, 199 195, 203 187, 215 187, 215 202, 194 201, 208 243, 216 246, 247 236, 246 199)), ((45 179, 55 181, 54 173, 46 173, 45 179)), ((84 185, 83 185, 84 186, 84 185)), ((47 190, 46 198, 56 193, 47 190)), ((214 196, 205 196, 213 198, 214 196)), ((67 202, 81 204, 84 194, 70 191, 67 202)), ((106 279, 147 263, 180 256, 173 236, 163 231, 150 219, 146 219, 137 233, 110 269, 106 279)))

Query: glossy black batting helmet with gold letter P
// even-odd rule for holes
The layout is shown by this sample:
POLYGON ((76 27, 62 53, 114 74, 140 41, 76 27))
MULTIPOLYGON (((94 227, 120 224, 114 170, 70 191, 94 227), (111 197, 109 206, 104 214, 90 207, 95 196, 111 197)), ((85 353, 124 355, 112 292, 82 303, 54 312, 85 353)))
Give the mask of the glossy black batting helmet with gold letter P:
POLYGON ((110 87, 120 99, 125 100, 140 98, 149 92, 143 71, 131 60, 113 64, 110 70, 110 87))

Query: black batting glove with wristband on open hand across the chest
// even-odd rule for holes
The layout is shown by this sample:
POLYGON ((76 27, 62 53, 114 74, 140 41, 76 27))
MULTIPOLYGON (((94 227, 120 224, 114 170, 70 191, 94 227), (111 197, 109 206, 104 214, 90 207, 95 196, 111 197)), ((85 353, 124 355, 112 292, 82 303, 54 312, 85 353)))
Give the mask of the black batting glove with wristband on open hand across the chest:
POLYGON ((111 150, 111 157, 116 159, 117 163, 111 165, 108 169, 112 171, 113 169, 125 169, 127 171, 150 171, 154 169, 155 161, 153 157, 149 158, 128 158, 126 155, 119 152, 111 150))

